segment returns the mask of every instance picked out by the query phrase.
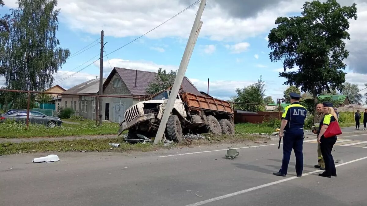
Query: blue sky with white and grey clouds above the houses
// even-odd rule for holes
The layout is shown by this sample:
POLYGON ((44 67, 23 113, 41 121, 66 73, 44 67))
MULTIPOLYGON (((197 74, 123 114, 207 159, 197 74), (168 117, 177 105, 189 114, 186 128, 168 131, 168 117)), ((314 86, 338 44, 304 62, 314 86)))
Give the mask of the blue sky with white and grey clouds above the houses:
MULTIPOLYGON (((182 11, 196 0, 58 0, 60 47, 77 54, 69 58, 55 74, 55 84, 65 89, 99 76, 99 38, 104 30, 105 54, 103 76, 113 67, 146 71, 177 70, 199 4, 129 43, 182 11), (88 47, 86 47, 89 45, 88 47), (77 52, 86 47, 86 51, 77 52), (113 52, 115 51, 115 52, 113 52), (112 53, 112 54, 110 54, 112 53), (94 57, 95 56, 95 57, 94 57), (93 58, 94 57, 94 58, 93 58), (89 60, 89 61, 88 61, 89 60), (94 63, 92 63, 94 62, 94 63), (84 65, 82 65, 84 63, 84 65), (91 64, 91 65, 90 65, 91 64), (86 67, 87 65, 90 65, 86 67), (85 69, 83 69, 86 67, 85 69), (80 69, 83 69, 79 71, 80 69), (78 73, 76 73, 79 71, 78 73), (73 76, 68 77, 73 74, 73 76)), ((236 88, 253 84, 262 76, 265 94, 275 100, 283 97, 287 85, 279 77, 282 62, 269 60, 267 36, 278 16, 301 15, 304 0, 222 1, 207 0, 201 21, 203 26, 186 70, 199 91, 227 100, 236 88)), ((350 54, 345 70, 346 81, 365 88, 367 82, 367 0, 338 0, 341 5, 357 3, 357 20, 350 20, 350 54)), ((0 14, 16 8, 16 0, 4 0, 0 14)), ((83 49, 83 50, 85 50, 83 49)), ((81 51, 83 51, 81 50, 81 51)), ((4 84, 0 77, 0 85, 4 84)), ((367 90, 362 91, 364 94, 367 90)))

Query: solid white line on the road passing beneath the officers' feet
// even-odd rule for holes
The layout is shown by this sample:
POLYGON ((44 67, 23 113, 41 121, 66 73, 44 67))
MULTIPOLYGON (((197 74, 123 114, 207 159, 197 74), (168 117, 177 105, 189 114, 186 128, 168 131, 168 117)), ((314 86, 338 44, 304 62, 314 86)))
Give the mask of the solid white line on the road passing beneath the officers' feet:
MULTIPOLYGON (((349 162, 341 163, 341 164, 335 165, 335 167, 343 166, 343 165, 350 164, 350 163, 353 163, 353 162, 357 162, 357 161, 360 161, 360 160, 363 160, 363 159, 367 159, 367 157, 363 157, 363 158, 355 159, 355 160, 352 160, 352 161, 349 161, 349 162)), ((314 174, 316 172, 321 172, 321 170, 315 170, 315 171, 312 171, 312 172, 303 174, 302 177, 307 176, 309 174, 314 174)), ((294 177, 288 177, 288 178, 283 179, 283 180, 278 180, 278 181, 275 181, 275 182, 272 182, 272 183, 267 183, 267 184, 259 185, 257 187, 251 187, 251 188, 248 188, 246 190, 241 190, 241 191, 238 191, 238 192, 233 192, 233 193, 230 193, 230 194, 227 194, 227 195, 218 196, 216 198, 207 199, 207 200, 204 200, 204 201, 201 201, 201 202, 196 202, 196 203, 193 203, 193 204, 190 204, 190 205, 186 205, 186 206, 199 206, 199 205, 204 205, 204 204, 207 204, 207 203, 210 203, 210 202, 214 202, 214 201, 218 201, 218 200, 221 200, 221 199, 229 198, 229 197, 232 197, 232 196, 235 196, 235 195, 244 194, 246 192, 251 192, 251 191, 258 190, 258 189, 261 189, 261 188, 264 188, 264 187, 269 187, 271 185, 283 183, 283 182, 286 182, 286 181, 289 181, 289 180, 293 180, 293 179, 296 179, 296 178, 299 178, 299 177, 296 177, 296 176, 294 176, 294 177)))

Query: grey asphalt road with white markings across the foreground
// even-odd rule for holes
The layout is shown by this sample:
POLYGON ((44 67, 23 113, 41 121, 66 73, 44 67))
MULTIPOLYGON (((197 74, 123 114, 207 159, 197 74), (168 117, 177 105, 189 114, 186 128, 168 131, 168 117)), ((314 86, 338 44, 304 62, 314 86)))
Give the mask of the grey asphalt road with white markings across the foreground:
POLYGON ((344 163, 331 179, 317 176, 313 168, 314 138, 305 138, 301 178, 295 176, 294 155, 286 177, 272 175, 281 164, 277 141, 133 154, 58 153, 61 161, 56 163, 32 163, 47 154, 3 156, 0 205, 365 206, 367 132, 339 137, 338 144, 349 146, 334 147, 334 159, 344 163), (240 155, 228 160, 228 147, 247 148, 237 149, 240 155))

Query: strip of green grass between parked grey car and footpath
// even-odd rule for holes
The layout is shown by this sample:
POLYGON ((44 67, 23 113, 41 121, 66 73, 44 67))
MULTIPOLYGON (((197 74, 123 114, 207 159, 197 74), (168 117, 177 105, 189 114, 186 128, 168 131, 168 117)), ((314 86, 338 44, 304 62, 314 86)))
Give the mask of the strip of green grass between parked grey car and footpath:
POLYGON ((101 126, 96 126, 95 122, 83 122, 80 125, 63 124, 55 128, 30 124, 28 129, 21 123, 3 122, 0 124, 0 138, 114 135, 117 134, 118 130, 119 125, 117 123, 107 122, 103 122, 101 126))

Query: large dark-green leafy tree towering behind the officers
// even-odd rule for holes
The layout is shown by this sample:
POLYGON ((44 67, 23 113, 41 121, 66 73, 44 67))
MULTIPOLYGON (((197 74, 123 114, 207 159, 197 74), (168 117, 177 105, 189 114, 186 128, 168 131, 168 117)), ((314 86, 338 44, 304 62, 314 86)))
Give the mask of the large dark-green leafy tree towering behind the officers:
POLYGON ((349 55, 345 49, 349 19, 357 19, 357 8, 343 6, 336 0, 306 2, 302 16, 278 17, 269 35, 270 60, 283 60, 284 84, 310 91, 314 103, 317 95, 330 89, 342 90, 345 82, 345 63, 349 55), (297 71, 287 69, 299 67, 297 71))

